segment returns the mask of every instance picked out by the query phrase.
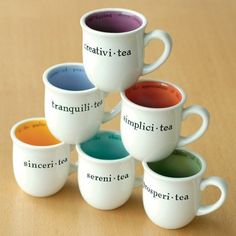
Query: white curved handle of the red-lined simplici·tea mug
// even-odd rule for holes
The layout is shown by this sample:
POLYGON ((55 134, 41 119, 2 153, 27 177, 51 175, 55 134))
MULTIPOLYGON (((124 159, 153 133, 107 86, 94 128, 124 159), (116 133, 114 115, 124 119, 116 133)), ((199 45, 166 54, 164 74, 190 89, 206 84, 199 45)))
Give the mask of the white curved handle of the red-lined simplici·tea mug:
POLYGON ((182 113, 182 119, 184 120, 187 116, 191 114, 199 115, 202 118, 202 125, 194 134, 191 134, 187 137, 180 137, 177 147, 182 147, 189 143, 192 143, 200 136, 202 136, 208 128, 210 114, 205 108, 199 105, 192 105, 188 108, 185 108, 182 113))

